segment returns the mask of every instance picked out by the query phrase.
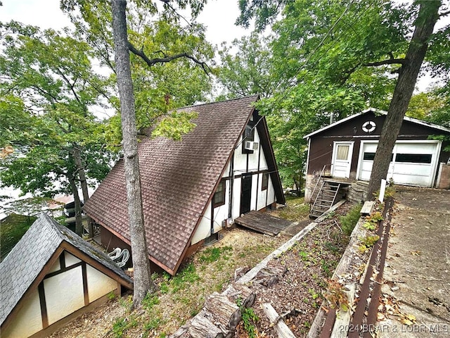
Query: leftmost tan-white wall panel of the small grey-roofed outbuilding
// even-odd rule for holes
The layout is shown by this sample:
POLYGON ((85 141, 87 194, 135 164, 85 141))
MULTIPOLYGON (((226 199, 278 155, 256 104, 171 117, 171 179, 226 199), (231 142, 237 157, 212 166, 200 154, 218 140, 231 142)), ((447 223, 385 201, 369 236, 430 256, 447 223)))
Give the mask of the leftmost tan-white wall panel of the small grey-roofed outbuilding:
POLYGON ((1 338, 30 337, 42 330, 41 304, 37 289, 25 299, 22 308, 11 320, 6 330, 1 330, 1 338))

